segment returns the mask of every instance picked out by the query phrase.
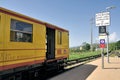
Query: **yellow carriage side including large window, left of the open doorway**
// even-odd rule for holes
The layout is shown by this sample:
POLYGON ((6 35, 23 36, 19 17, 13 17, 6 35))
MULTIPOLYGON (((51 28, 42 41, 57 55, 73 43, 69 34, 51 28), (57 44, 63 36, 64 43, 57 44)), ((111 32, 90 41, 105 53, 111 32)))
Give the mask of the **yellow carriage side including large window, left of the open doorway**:
POLYGON ((45 25, 1 12, 3 69, 44 62, 45 25), (3 24, 4 23, 4 24, 3 24), (23 27, 24 26, 24 27, 23 27), (40 36, 40 37, 38 37, 40 36))

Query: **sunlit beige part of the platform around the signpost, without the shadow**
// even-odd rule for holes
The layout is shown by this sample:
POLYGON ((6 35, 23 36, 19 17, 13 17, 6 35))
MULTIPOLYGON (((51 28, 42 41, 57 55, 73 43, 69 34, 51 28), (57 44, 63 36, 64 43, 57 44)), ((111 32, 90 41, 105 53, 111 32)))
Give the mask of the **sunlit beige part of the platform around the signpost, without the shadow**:
POLYGON ((109 60, 108 63, 107 57, 104 57, 104 68, 102 68, 102 58, 87 63, 97 67, 86 80, 120 80, 120 58, 110 57, 109 60))

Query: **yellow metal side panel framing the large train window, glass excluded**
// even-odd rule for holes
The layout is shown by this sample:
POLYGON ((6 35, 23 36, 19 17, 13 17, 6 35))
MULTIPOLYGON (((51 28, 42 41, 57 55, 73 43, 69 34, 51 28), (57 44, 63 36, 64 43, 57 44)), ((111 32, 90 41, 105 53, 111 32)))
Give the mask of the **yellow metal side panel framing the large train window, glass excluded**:
POLYGON ((44 25, 37 24, 31 21, 27 21, 14 16, 6 15, 6 26, 4 39, 4 65, 44 60, 45 59, 45 38, 46 38, 46 28, 44 25), (27 22, 33 24, 33 42, 11 42, 10 41, 10 23, 11 19, 16 19, 19 21, 27 22))

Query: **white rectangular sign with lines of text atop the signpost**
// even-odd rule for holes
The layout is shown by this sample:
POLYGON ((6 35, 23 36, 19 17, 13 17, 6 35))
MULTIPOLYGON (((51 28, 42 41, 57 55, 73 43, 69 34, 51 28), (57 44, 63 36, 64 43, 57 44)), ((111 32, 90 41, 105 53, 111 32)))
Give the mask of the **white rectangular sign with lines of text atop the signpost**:
POLYGON ((110 13, 102 12, 96 14, 96 26, 108 26, 110 25, 110 13))

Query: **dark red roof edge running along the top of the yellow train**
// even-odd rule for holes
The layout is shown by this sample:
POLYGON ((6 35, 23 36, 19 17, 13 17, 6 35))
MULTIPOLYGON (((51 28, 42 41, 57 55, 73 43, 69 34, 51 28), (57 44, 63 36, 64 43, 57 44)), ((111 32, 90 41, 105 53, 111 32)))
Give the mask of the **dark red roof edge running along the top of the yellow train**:
POLYGON ((68 30, 60 28, 56 25, 53 25, 53 24, 50 24, 48 22, 44 22, 44 21, 41 21, 41 20, 38 20, 38 19, 35 19, 35 18, 31 18, 29 16, 26 16, 26 15, 23 15, 23 14, 5 9, 3 7, 0 7, 0 12, 5 13, 5 14, 9 14, 9 15, 12 15, 12 16, 16 16, 16 17, 19 17, 19 18, 23 18, 23 19, 26 19, 26 20, 29 20, 29 21, 32 21, 32 22, 35 22, 35 23, 43 24, 43 25, 46 25, 46 27, 49 27, 49 28, 52 28, 52 29, 58 29, 58 30, 61 30, 61 31, 69 32, 68 30))

